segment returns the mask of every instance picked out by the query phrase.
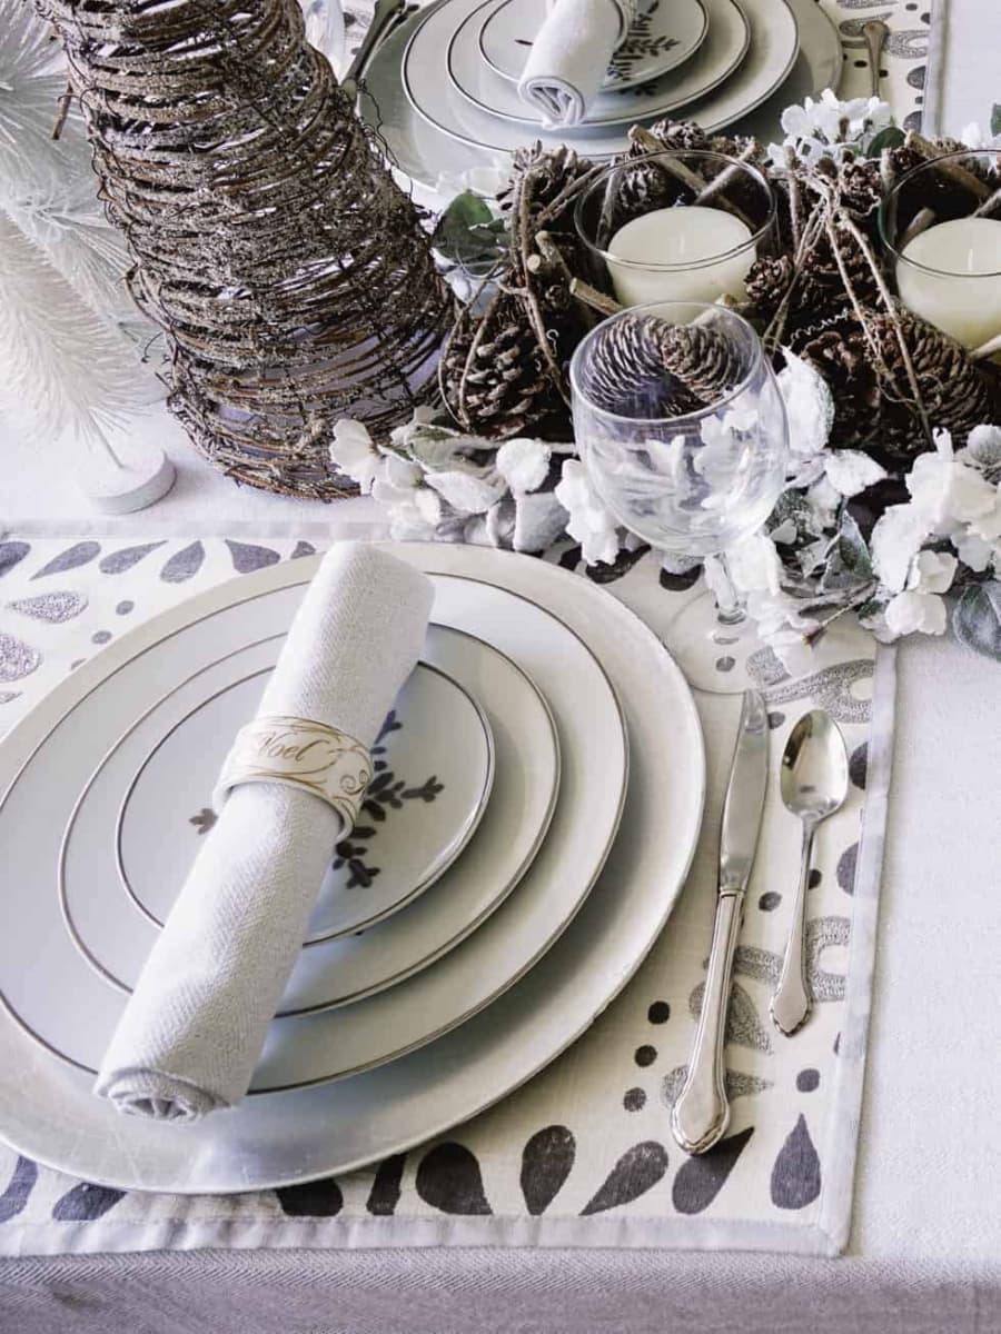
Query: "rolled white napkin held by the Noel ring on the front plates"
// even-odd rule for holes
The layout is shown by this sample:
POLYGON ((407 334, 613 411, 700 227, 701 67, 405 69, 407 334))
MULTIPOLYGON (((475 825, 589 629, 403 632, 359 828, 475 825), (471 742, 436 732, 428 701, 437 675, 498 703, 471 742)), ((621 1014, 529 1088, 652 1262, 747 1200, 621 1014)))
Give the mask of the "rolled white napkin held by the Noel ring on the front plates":
MULTIPOLYGON (((342 543, 306 591, 258 716, 371 746, 424 642, 431 580, 342 543)), ((119 1111, 198 1121, 247 1091, 306 936, 342 818, 276 783, 234 787, 125 1006, 95 1091, 119 1111)))

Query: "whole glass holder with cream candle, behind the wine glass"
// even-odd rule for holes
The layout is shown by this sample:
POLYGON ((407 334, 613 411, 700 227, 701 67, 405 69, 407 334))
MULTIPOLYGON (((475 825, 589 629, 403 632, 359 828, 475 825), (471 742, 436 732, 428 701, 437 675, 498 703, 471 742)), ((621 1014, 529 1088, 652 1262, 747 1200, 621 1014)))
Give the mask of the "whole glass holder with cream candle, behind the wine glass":
POLYGON ((574 221, 591 283, 621 305, 739 301, 747 269, 774 243, 775 197, 749 163, 679 149, 609 167, 574 221))

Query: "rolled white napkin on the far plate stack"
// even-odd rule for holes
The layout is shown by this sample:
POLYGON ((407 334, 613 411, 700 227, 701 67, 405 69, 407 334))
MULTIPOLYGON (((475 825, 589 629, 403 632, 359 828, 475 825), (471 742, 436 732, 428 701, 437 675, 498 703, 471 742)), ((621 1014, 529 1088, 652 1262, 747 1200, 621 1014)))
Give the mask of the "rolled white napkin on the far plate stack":
POLYGON ((638 0, 553 0, 518 83, 522 101, 547 128, 577 125, 598 92, 638 0))

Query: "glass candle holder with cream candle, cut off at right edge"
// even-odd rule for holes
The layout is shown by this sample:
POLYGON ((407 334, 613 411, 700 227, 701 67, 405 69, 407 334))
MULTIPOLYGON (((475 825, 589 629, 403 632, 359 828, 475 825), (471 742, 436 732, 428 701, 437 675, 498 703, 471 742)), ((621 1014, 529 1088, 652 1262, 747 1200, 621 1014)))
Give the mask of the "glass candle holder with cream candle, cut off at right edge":
POLYGON ((1001 336, 1000 191, 1001 152, 964 149, 913 167, 880 208, 901 303, 968 348, 1001 336))

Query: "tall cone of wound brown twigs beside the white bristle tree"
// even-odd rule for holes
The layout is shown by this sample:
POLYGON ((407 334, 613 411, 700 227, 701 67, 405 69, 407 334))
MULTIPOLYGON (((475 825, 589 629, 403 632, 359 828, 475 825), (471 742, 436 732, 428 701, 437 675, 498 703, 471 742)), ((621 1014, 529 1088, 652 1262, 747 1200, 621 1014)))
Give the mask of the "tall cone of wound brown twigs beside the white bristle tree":
POLYGON ((170 406, 239 482, 331 499, 346 412, 376 435, 451 317, 411 200, 296 0, 39 0, 65 47, 170 406))

